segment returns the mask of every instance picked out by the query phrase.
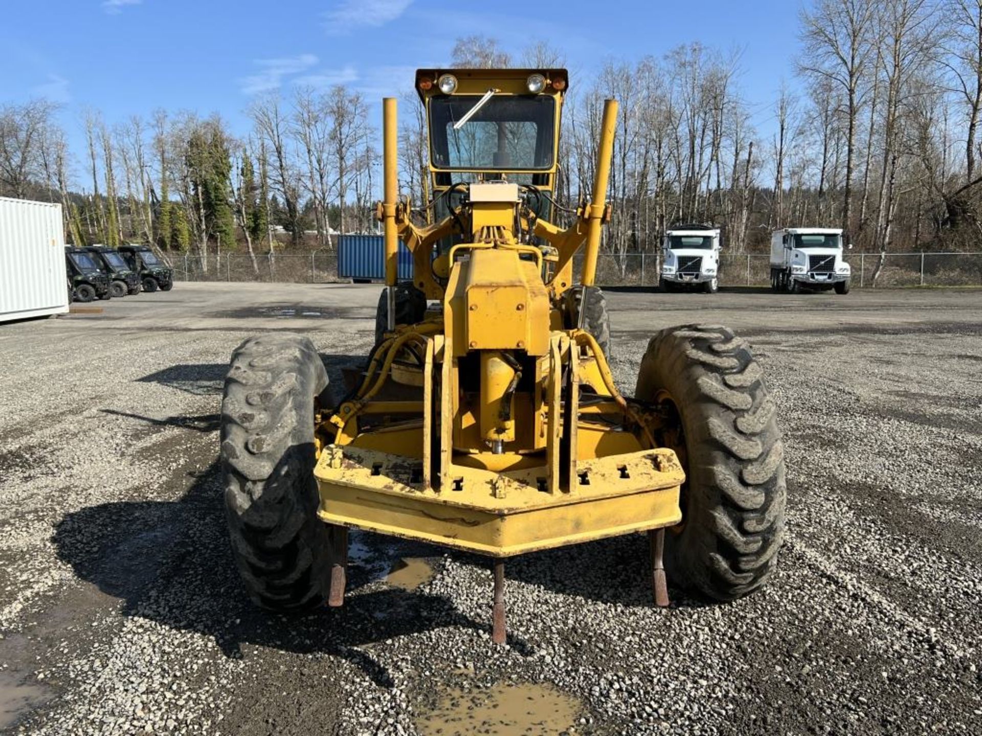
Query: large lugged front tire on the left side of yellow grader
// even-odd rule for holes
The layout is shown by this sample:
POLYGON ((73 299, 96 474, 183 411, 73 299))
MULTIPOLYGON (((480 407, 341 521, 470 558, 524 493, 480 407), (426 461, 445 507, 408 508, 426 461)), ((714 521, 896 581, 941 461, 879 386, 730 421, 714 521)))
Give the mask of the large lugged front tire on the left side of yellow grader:
POLYGON ((317 518, 314 404, 327 372, 306 338, 243 342, 225 379, 221 461, 232 552, 257 605, 320 605, 331 569, 328 526, 317 518))

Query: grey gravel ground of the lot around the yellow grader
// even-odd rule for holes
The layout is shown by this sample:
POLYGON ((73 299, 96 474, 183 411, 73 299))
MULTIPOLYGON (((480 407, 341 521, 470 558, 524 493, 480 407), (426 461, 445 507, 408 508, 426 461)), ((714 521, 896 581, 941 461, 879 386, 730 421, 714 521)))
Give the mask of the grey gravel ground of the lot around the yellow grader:
MULTIPOLYGON (((627 392, 658 328, 751 342, 787 442, 780 570, 656 609, 640 536, 525 555, 506 647, 465 554, 356 534, 348 604, 299 621, 240 588, 215 463, 229 355, 302 331, 340 385, 377 293, 179 284, 0 325, 0 729, 433 733, 511 686, 571 734, 982 732, 982 291, 611 292, 627 392), (403 558, 432 575, 388 581, 403 558)), ((502 711, 488 732, 553 729, 481 708, 502 711)))

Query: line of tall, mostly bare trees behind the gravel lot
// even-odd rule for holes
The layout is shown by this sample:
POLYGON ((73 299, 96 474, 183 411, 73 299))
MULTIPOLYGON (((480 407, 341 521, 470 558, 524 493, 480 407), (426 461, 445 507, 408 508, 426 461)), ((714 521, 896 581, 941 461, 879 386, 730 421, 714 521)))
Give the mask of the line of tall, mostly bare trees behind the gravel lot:
MULTIPOLYGON (((613 96, 612 253, 655 250, 679 222, 722 227, 736 252, 794 226, 841 227, 867 252, 979 249, 982 0, 815 0, 798 41, 800 91, 782 83, 764 109, 741 88, 740 54, 699 43, 572 79, 560 202, 589 190, 613 96)), ((484 36, 459 39, 451 57, 460 67, 565 62, 547 43, 513 58, 484 36)), ((415 94, 403 96, 402 187, 420 204, 425 121, 415 94)), ((110 127, 88 111, 82 151, 69 150, 55 113, 45 100, 0 107, 0 194, 61 201, 73 242, 254 257, 330 248, 332 234, 373 227, 381 141, 350 87, 258 97, 241 135, 218 115, 158 110, 110 127)))

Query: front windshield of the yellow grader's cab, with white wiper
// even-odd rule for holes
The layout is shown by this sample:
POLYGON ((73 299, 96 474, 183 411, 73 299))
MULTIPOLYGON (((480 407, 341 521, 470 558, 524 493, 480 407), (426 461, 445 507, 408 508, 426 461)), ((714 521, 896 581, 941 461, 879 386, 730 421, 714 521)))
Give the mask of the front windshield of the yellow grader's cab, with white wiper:
POLYGON ((541 171, 553 165, 556 100, 496 95, 459 130, 479 94, 430 98, 430 151, 436 169, 541 171))

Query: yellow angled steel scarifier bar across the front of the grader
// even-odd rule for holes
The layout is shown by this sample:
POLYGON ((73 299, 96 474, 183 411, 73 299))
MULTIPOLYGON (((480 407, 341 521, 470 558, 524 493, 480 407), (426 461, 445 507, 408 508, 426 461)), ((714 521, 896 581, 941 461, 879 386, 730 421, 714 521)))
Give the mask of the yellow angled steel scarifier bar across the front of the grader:
POLYGON ((354 447, 321 453, 318 514, 331 524, 510 556, 678 524, 684 474, 669 449, 583 460, 570 493, 544 490, 543 466, 452 466, 448 488, 423 488, 418 463, 354 447), (340 467, 332 467, 339 464, 340 467), (459 490, 457 490, 459 489, 459 490))

